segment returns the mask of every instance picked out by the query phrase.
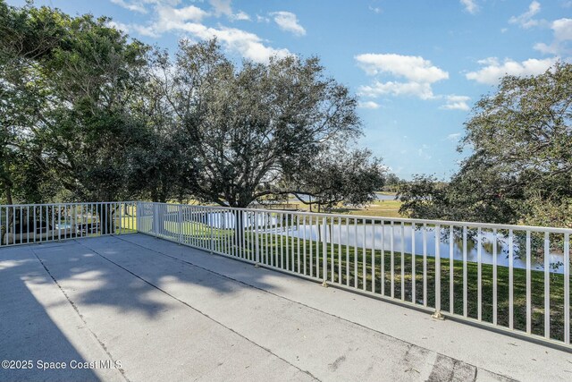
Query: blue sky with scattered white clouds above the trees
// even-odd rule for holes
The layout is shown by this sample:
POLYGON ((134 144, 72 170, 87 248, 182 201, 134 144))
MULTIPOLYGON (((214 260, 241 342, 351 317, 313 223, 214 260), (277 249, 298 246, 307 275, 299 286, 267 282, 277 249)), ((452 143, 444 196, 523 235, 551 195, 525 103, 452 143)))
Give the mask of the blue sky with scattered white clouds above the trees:
MULTIPOLYGON (((8 0, 21 5, 23 0, 8 0)), ((458 169, 470 109, 505 73, 569 61, 572 0, 47 0, 174 52, 216 36, 239 61, 318 55, 359 96, 372 149, 402 178, 458 169)))

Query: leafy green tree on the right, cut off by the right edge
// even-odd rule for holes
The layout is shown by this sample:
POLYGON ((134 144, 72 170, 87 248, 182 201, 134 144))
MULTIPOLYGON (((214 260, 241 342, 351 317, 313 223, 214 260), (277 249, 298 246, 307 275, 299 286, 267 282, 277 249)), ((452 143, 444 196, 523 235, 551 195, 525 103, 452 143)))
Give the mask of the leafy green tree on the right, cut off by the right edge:
POLYGON ((473 153, 436 192, 402 187, 402 211, 416 217, 567 225, 538 217, 538 206, 568 210, 572 199, 572 64, 537 76, 506 76, 475 105, 462 149, 473 153), (420 203, 423 192, 432 199, 420 203), (534 217, 536 216, 536 217, 534 217))

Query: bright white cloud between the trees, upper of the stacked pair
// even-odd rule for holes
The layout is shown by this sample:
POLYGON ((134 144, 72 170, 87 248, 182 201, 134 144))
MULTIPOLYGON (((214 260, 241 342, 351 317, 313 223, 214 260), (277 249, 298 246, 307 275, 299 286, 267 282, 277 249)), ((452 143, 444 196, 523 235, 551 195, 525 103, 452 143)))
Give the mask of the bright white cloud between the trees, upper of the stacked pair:
POLYGON ((390 73, 409 81, 433 83, 446 80, 449 73, 418 55, 365 54, 356 55, 357 64, 369 75, 390 73))

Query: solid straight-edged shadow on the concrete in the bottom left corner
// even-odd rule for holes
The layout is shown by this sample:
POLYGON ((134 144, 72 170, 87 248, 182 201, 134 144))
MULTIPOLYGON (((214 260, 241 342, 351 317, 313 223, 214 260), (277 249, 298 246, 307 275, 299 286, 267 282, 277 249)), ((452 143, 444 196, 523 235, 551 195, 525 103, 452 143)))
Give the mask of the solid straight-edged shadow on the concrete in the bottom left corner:
POLYGON ((81 356, 28 286, 53 283, 25 250, 0 250, 0 360, 17 362, 14 369, 3 364, 0 380, 99 380, 91 369, 70 369, 71 361, 99 360, 81 356), (67 368, 38 369, 38 361, 67 368))

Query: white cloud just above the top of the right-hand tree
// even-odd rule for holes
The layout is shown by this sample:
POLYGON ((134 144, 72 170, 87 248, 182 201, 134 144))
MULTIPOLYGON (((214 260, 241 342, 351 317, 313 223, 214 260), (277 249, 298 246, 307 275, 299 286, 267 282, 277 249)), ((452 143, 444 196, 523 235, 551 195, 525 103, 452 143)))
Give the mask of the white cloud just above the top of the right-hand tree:
POLYGON ((478 63, 484 65, 484 67, 475 72, 467 72, 466 77, 467 80, 495 85, 502 76, 507 74, 527 76, 546 72, 557 60, 557 57, 545 58, 543 60, 529 58, 528 60, 518 63, 514 60, 506 59, 501 63, 496 57, 490 57, 479 61, 478 63))

